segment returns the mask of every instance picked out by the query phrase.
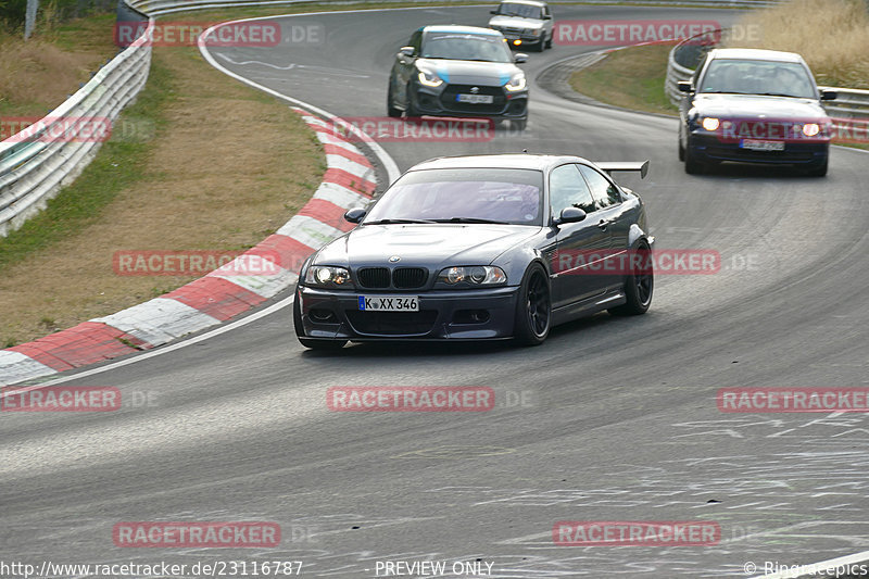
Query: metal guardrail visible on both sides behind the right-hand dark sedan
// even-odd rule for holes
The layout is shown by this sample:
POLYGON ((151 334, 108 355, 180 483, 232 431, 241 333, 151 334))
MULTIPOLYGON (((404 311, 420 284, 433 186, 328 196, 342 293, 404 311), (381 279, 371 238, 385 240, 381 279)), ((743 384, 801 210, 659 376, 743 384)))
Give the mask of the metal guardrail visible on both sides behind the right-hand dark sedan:
MULTIPOLYGON (((720 38, 720 33, 721 30, 715 30, 710 37, 708 36, 709 33, 706 33, 707 37, 713 38, 708 42, 698 38, 704 35, 688 38, 670 50, 667 58, 667 76, 664 80, 664 91, 672 104, 678 106, 684 96, 683 92, 679 91, 678 83, 691 79, 694 75, 693 66, 696 66, 704 52, 717 46, 717 41, 714 39, 720 38), (715 33, 719 33, 719 35, 715 33)), ((845 130, 849 128, 841 123, 844 119, 869 123, 869 90, 827 86, 818 88, 839 92, 839 97, 835 100, 823 101, 823 108, 833 118, 833 125, 836 129, 845 130)))

